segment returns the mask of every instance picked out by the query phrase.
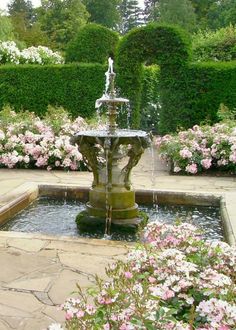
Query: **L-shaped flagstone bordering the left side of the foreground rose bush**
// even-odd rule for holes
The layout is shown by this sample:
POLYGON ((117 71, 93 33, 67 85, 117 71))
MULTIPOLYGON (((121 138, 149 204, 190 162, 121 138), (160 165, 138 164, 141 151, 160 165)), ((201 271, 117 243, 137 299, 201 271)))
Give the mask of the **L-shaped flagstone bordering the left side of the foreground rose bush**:
POLYGON ((60 305, 72 292, 76 291, 77 283, 82 288, 87 288, 92 285, 92 279, 71 270, 63 270, 50 288, 48 295, 55 305, 60 305))

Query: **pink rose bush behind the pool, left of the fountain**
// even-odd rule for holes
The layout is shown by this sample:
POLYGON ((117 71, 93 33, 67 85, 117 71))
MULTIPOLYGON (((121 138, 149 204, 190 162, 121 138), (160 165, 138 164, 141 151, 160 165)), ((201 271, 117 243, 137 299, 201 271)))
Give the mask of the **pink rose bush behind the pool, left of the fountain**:
POLYGON ((88 127, 63 108, 49 107, 44 119, 32 112, 0 112, 0 167, 78 170, 84 166, 71 136, 88 127))

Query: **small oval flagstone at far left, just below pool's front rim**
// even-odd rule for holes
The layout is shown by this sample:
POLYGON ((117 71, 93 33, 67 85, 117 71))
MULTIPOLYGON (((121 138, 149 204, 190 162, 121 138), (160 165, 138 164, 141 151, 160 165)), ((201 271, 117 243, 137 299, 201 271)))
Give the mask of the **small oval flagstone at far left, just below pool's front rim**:
POLYGON ((39 239, 17 239, 12 238, 7 241, 9 246, 14 248, 24 250, 27 252, 38 252, 40 251, 45 245, 46 242, 44 240, 39 239))

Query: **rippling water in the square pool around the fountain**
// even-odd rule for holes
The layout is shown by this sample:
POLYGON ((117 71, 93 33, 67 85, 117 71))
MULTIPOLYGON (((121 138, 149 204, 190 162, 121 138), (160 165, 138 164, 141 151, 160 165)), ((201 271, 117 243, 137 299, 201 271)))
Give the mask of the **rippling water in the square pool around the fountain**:
MULTIPOLYGON (((80 233, 75 218, 85 209, 76 200, 40 197, 0 227, 4 231, 42 233, 58 236, 103 238, 104 228, 96 233, 80 233)), ((149 221, 174 223, 176 220, 190 222, 202 229, 206 239, 223 240, 220 209, 213 206, 154 205, 139 209, 149 215, 149 221)), ((134 241, 134 234, 111 233, 113 240, 134 241)))

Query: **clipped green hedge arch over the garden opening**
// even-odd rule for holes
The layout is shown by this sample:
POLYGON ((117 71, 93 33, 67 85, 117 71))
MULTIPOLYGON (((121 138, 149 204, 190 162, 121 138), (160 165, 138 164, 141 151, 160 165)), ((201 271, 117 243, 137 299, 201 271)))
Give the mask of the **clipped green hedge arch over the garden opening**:
MULTIPOLYGON (((130 99, 132 127, 140 125, 140 101, 143 78, 143 63, 158 64, 162 76, 161 89, 165 97, 172 94, 171 86, 166 85, 165 75, 175 77, 190 57, 188 35, 177 27, 149 24, 128 33, 118 47, 118 85, 122 95, 130 99)), ((176 81, 175 81, 176 83, 176 81)), ((162 99, 163 102, 163 99, 162 99)))

